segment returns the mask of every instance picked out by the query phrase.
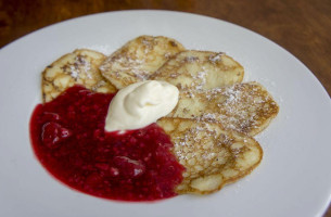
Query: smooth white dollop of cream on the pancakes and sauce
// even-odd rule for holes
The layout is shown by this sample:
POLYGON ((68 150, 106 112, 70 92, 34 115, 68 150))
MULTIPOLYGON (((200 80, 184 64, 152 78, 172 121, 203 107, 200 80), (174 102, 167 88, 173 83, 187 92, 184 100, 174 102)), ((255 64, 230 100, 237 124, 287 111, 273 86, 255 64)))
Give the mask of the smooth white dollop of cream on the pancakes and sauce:
POLYGON ((144 80, 123 89, 112 100, 105 119, 106 131, 139 129, 169 114, 179 91, 166 81, 144 80))

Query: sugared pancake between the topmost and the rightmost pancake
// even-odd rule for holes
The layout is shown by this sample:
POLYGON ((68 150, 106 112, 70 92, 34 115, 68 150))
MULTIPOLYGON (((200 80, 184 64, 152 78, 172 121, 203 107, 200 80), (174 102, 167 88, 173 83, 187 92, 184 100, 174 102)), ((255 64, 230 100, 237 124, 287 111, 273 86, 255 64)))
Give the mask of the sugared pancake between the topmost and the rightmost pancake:
POLYGON ((225 53, 188 50, 171 58, 150 79, 165 80, 181 90, 209 90, 241 82, 243 76, 243 67, 225 53))

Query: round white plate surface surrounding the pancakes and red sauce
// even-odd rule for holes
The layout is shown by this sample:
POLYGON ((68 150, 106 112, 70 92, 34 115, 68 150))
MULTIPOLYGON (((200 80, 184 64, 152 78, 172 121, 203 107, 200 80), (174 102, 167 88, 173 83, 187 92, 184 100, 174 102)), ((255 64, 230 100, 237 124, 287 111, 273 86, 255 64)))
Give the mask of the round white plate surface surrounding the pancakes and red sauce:
POLYGON ((242 27, 200 15, 123 11, 75 18, 0 50, 0 216, 321 216, 331 195, 331 101, 293 55, 242 27), (28 122, 40 102, 40 73, 76 48, 110 54, 139 35, 174 37, 189 49, 225 51, 280 105, 258 136, 265 155, 246 178, 206 196, 118 203, 59 183, 36 161, 28 122))

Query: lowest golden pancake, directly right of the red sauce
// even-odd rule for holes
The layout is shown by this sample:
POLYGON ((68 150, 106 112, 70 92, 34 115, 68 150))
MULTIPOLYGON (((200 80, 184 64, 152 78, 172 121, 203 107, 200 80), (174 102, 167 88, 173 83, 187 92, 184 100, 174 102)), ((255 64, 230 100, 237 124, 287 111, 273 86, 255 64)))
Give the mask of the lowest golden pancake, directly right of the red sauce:
POLYGON ((253 138, 225 130, 215 123, 161 118, 174 142, 173 152, 186 167, 179 194, 207 194, 250 174, 262 161, 263 150, 253 138))

